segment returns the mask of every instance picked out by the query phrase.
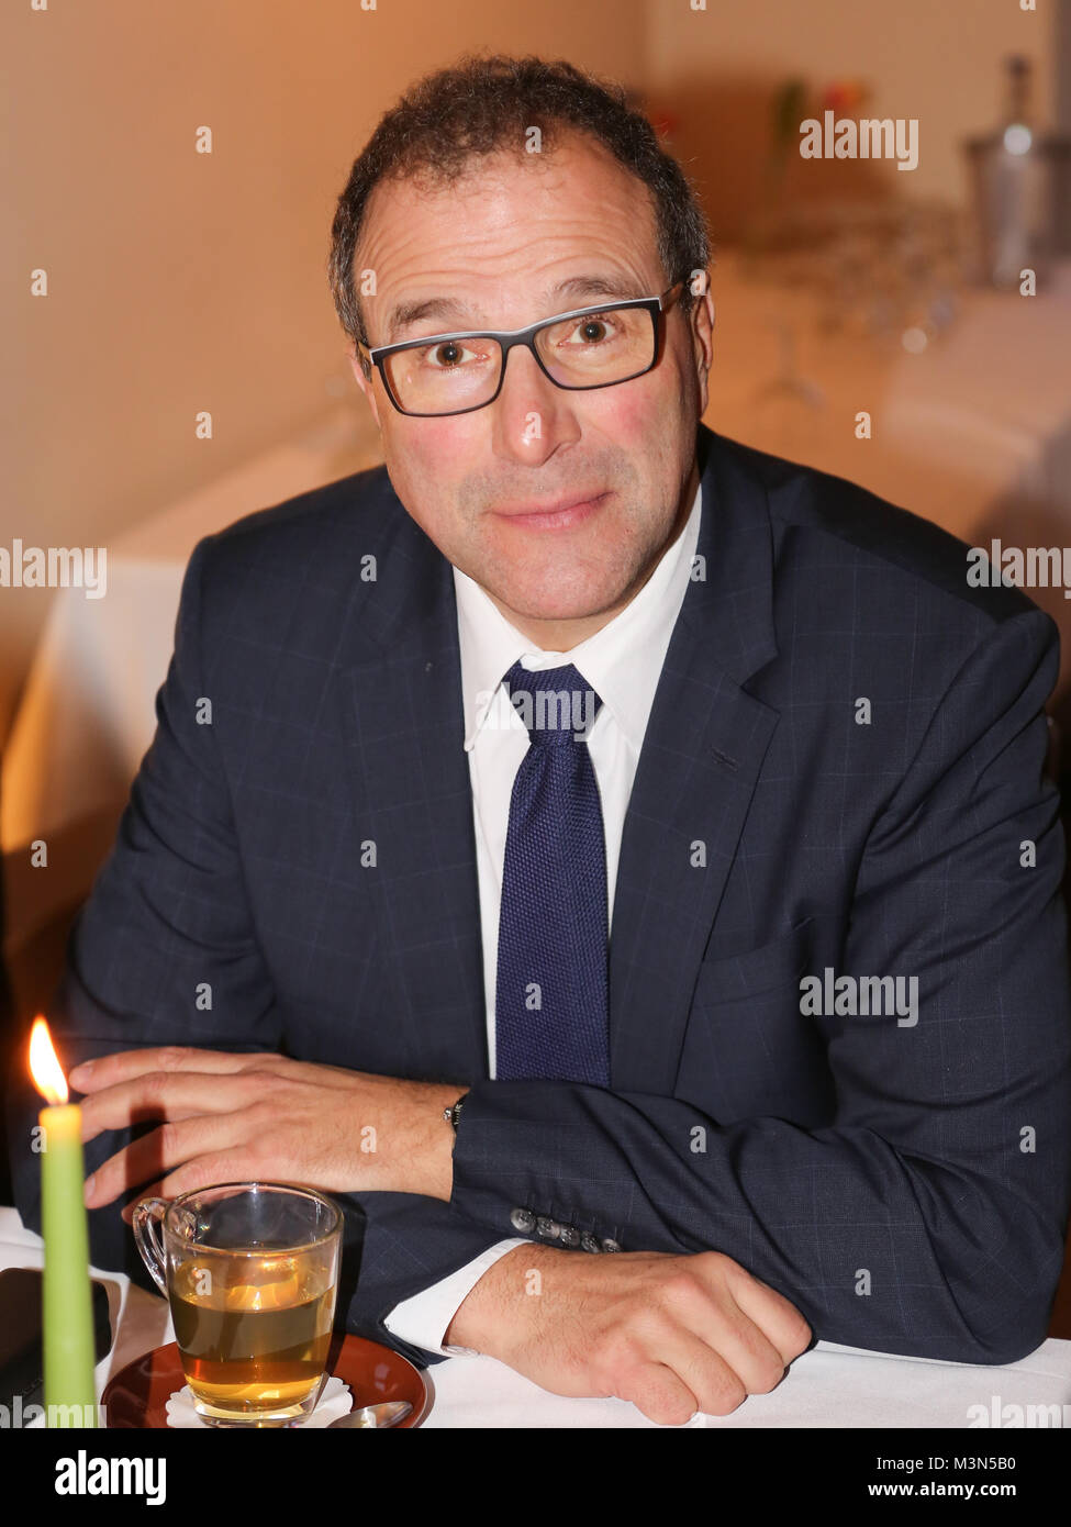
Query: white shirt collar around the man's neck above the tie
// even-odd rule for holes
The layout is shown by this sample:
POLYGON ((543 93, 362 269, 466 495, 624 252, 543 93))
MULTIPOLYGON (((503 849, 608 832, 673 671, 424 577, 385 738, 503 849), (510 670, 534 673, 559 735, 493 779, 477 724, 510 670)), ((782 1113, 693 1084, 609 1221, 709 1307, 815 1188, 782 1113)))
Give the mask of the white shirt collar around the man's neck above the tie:
POLYGON ((509 669, 524 660, 524 667, 530 670, 574 664, 639 754, 666 647, 688 591, 701 513, 700 484, 684 528, 662 554, 640 592, 602 631, 570 652, 547 652, 535 646, 506 620, 474 579, 454 568, 466 753, 475 747, 487 716, 487 698, 509 669))

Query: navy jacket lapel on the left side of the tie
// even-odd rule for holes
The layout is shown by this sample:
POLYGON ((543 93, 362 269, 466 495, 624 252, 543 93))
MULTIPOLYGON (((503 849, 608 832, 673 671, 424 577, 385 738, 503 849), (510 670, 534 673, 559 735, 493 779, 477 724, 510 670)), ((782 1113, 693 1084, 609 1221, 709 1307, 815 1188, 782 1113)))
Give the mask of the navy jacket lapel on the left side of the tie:
POLYGON ((341 695, 356 838, 379 898, 405 1051, 425 1080, 487 1075, 480 889, 449 562, 390 483, 368 519, 376 582, 354 600, 341 695))

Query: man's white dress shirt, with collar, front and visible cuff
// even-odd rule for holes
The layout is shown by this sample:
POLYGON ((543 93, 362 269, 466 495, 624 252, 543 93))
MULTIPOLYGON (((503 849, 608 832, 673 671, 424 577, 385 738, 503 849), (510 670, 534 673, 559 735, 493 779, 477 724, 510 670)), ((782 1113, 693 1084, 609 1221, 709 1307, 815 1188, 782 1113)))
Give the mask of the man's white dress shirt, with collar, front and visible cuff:
MULTIPOLYGON (((607 927, 613 927, 617 860, 625 811, 643 747, 681 602, 692 573, 700 534, 703 490, 695 492, 691 515, 677 541, 666 548, 640 592, 602 631, 570 652, 544 652, 516 631, 478 583, 454 568, 457 629, 464 704, 464 751, 469 754, 475 825, 480 925, 487 1009, 487 1057, 495 1075, 495 988, 498 982, 498 910, 513 779, 530 742, 529 733, 501 687, 521 660, 530 672, 571 663, 602 699, 588 733, 588 753, 599 786, 607 841, 607 927)), ((461 1116, 460 1128, 464 1128, 461 1116)), ((501 1240, 474 1261, 396 1304, 383 1324, 402 1341, 442 1354, 468 1353, 442 1341, 466 1295, 484 1272, 526 1238, 501 1240)))

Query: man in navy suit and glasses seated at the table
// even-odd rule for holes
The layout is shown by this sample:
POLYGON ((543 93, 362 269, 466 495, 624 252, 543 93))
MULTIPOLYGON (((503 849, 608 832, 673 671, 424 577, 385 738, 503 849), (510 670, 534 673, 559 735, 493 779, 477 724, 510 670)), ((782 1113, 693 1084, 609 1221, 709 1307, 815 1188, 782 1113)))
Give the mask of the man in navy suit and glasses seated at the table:
POLYGON ((700 423, 707 263, 678 166, 564 64, 422 81, 354 163, 332 281, 387 466, 191 557, 53 1012, 96 1060, 96 1261, 145 1193, 309 1182, 350 1330, 663 1422, 813 1338, 1043 1341, 1056 628, 700 423))

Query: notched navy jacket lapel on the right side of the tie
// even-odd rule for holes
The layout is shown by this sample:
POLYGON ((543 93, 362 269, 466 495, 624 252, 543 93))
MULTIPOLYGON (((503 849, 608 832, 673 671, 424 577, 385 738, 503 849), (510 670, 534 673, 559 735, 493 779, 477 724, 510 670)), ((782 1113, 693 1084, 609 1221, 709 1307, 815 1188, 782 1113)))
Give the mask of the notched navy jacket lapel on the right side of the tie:
POLYGON ((764 486, 700 426, 706 579, 689 583, 625 815, 610 938, 611 1086, 671 1093, 703 950, 778 712, 743 689, 776 655, 764 486))

